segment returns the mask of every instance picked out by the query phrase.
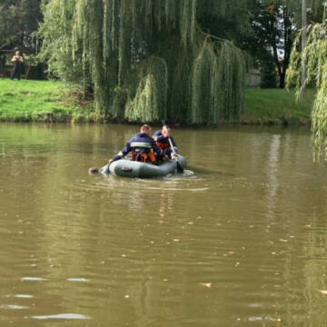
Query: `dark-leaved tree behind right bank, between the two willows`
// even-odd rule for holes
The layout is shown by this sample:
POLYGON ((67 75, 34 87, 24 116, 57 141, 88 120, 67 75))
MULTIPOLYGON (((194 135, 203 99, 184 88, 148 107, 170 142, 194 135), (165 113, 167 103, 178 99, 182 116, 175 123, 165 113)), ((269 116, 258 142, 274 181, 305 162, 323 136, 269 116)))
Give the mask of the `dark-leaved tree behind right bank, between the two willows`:
MULTIPOLYGON (((309 21, 322 17, 322 0, 306 0, 309 21)), ((249 10, 252 13, 253 35, 245 38, 245 49, 258 61, 258 66, 269 81, 274 84, 273 71, 277 70, 279 86, 284 87, 285 74, 289 65, 293 40, 302 28, 302 1, 299 0, 253 0, 249 10)))

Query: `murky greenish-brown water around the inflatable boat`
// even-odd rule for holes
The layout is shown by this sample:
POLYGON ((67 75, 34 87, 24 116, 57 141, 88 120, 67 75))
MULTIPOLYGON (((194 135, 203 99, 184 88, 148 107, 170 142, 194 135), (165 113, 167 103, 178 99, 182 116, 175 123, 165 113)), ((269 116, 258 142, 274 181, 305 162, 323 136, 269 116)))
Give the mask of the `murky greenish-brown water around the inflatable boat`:
POLYGON ((310 132, 176 129, 185 175, 87 173, 136 132, 0 124, 0 326, 326 326, 310 132))

